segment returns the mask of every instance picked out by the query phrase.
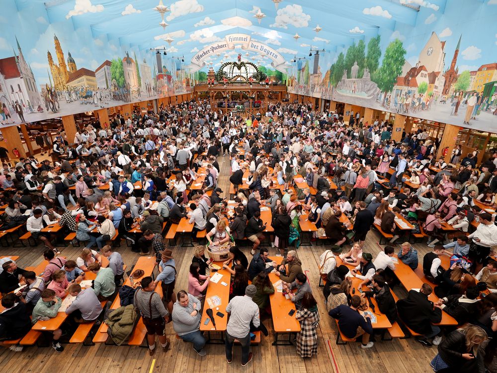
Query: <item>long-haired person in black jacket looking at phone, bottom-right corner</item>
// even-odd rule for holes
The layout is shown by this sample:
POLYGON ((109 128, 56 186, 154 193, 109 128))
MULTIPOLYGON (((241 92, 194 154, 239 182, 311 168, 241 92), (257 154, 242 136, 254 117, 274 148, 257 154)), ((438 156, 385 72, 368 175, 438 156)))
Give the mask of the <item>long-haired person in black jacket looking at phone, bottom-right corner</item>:
POLYGON ((487 333, 482 328, 466 324, 442 339, 430 365, 435 372, 483 373, 487 344, 487 333))

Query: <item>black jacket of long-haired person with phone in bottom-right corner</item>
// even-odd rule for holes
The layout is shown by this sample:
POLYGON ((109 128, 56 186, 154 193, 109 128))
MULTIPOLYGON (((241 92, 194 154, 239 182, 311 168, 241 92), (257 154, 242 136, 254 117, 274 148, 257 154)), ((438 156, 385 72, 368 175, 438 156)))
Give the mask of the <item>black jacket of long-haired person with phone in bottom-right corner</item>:
POLYGON ((466 360, 462 357, 462 354, 473 352, 468 351, 466 348, 466 335, 463 334, 462 329, 457 329, 442 339, 438 346, 438 353, 449 368, 453 369, 452 372, 485 373, 484 358, 487 342, 479 346, 475 359, 466 360))

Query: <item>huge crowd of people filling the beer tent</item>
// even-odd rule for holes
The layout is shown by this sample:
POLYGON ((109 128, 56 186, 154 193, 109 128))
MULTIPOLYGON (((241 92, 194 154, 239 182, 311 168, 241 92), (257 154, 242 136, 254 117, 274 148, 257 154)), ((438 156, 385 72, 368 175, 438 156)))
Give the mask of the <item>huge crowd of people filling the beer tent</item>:
MULTIPOLYGON (((53 163, 29 156, 1 170, 0 203, 6 205, 2 230, 24 225, 46 247, 49 265, 39 279, 14 261, 3 262, 0 333, 15 338, 37 320, 54 317, 66 294, 76 296, 66 310, 73 315, 71 326, 95 320, 100 301, 112 298, 122 283, 122 258, 109 246, 117 234, 131 244, 131 251, 157 258, 160 274, 155 280, 142 279, 135 299, 147 327, 150 354, 155 352, 156 335, 168 349, 164 327, 172 322, 178 336, 204 356, 200 319, 212 261, 205 248, 197 246, 188 287, 179 290, 173 251, 164 243, 167 227, 187 218, 194 240, 197 232, 206 230, 208 245, 250 241, 251 258, 235 245, 223 264, 232 273, 227 362, 233 361, 237 339, 242 365, 247 365, 253 332, 267 333, 263 321, 270 315, 268 299, 275 291, 268 280, 271 272, 280 277, 297 308, 297 352, 311 357, 317 353, 320 317, 315 298, 323 294, 313 294, 298 255, 306 250, 299 223, 305 214, 317 228, 311 241, 326 236, 332 245, 319 268, 326 281, 327 311, 338 319, 345 336, 361 336, 363 349, 373 346, 371 320, 357 311, 365 295, 350 292, 351 279, 358 278, 370 287, 368 295, 376 298, 389 320, 402 319, 421 335, 416 341, 438 346, 434 370, 463 367, 464 372, 483 373, 485 357, 495 349, 489 341, 497 331, 497 262, 492 257, 497 227, 496 214, 481 206, 495 209, 497 153, 479 164, 478 150, 462 155, 456 148, 447 163, 437 157, 438 147, 439 139, 430 138, 424 129, 403 133, 395 141, 387 121, 368 123, 353 112, 343 118, 301 103, 270 104, 265 113, 242 118, 192 100, 143 116, 118 114, 108 125, 79 128, 74 138, 62 131, 53 142, 53 163), (218 158, 225 154, 234 209, 218 184, 218 158), (201 187, 192 188, 200 176, 205 177, 201 187), (304 182, 307 188, 295 188, 294 183, 304 182), (271 211, 270 233, 265 232, 268 223, 262 221, 261 209, 271 211), (432 252, 418 257, 409 234, 396 225, 399 217, 428 236, 432 252), (52 224, 76 233, 84 243, 76 261, 60 256, 54 244, 63 236, 60 232, 42 231, 52 224), (136 224, 140 233, 132 229, 136 224), (442 229, 447 225, 451 229, 442 229), (365 245, 372 229, 391 235, 376 258, 365 245), (265 242, 270 246, 263 246, 265 242), (401 244, 398 259, 413 270, 419 262, 425 278, 437 284, 432 288, 424 283, 397 304, 390 291, 398 283, 396 243, 401 244), (268 259, 269 251, 281 256, 281 262, 268 259), (453 259, 450 268, 441 266, 442 255, 453 259), (102 256, 109 258, 108 268, 102 268, 102 256), (96 274, 93 288, 82 289, 79 283, 89 271, 96 274), (27 287, 12 293, 20 279, 27 287), (154 295, 159 284, 163 299, 154 295), (490 294, 480 299, 480 291, 487 288, 490 294), (437 304, 427 298, 433 291, 440 298, 437 304), (440 321, 442 309, 461 327, 433 325, 440 321), (15 324, 6 325, 14 318, 15 324)), ((64 349, 63 332, 53 333, 57 352, 64 349)))

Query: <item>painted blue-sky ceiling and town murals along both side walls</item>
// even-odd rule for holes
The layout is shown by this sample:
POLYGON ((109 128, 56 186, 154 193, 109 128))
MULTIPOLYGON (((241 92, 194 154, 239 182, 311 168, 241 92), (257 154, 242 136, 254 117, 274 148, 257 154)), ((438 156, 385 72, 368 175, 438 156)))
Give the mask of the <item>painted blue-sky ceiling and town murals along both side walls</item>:
POLYGON ((190 92, 240 53, 292 93, 497 132, 496 16, 497 0, 2 0, 0 124, 190 92), (271 55, 235 44, 189 68, 233 34, 271 55))

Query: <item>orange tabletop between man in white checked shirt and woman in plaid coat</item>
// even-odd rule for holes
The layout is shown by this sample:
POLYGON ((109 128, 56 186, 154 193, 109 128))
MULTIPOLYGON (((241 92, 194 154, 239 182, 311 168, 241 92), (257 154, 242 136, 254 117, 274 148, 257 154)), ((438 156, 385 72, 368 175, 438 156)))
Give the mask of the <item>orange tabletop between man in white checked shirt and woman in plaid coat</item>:
MULTIPOLYGON (((281 263, 281 257, 269 257, 272 261, 276 263, 281 263)), ((280 280, 278 276, 273 273, 269 274, 269 280, 274 284, 280 280)), ((269 295, 269 301, 271 303, 271 315, 273 318, 274 331, 276 333, 293 333, 300 331, 300 323, 295 318, 295 314, 290 316, 288 312, 290 310, 295 310, 295 304, 287 299, 283 293, 276 290, 274 286, 274 294, 269 295)))

